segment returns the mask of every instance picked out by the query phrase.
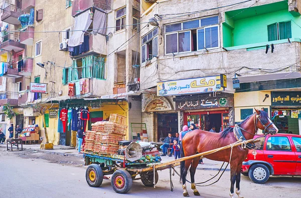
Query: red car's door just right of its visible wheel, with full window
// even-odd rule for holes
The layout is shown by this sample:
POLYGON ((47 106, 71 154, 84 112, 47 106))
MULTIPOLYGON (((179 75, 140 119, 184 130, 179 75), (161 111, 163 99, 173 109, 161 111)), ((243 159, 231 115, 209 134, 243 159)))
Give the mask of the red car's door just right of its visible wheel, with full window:
POLYGON ((296 157, 286 136, 268 137, 263 153, 265 160, 272 164, 274 174, 295 172, 296 157))

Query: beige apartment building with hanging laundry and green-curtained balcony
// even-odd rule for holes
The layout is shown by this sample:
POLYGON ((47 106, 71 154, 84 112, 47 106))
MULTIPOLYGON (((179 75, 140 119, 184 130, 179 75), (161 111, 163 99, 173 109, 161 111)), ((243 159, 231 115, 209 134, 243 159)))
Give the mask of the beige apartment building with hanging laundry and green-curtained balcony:
MULTIPOLYGON (((24 92, 26 98, 18 99, 24 125, 38 124, 40 136, 45 137, 42 127, 45 117, 49 142, 75 146, 76 130, 62 123, 62 109, 89 109, 86 129, 110 113, 127 116, 128 125, 141 122, 141 98, 134 94, 139 89, 140 36, 139 26, 132 25, 139 20, 138 0, 16 0, 10 3, 17 11, 20 8, 20 15, 34 14, 33 24, 23 24, 23 27, 18 23, 20 15, 12 11, 11 19, 7 20, 18 23, 14 32, 20 34, 20 41, 24 40, 18 44, 22 44, 32 65, 30 72, 26 72, 28 76, 18 72, 27 80, 27 84, 22 83, 24 89, 16 91, 21 97, 24 92), (36 84, 40 92, 31 92, 29 86, 36 84), (44 116, 41 109, 45 110, 44 116)), ((132 130, 128 127, 127 138, 132 137, 129 131, 132 130)))

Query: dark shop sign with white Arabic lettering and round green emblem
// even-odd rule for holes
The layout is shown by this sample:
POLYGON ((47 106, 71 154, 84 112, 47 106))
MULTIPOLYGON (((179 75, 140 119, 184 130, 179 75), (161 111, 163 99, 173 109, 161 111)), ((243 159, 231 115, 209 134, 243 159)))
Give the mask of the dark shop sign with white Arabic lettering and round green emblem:
POLYGON ((176 110, 193 110, 193 109, 201 109, 201 108, 231 107, 231 106, 233 106, 233 99, 229 99, 229 97, 176 102, 176 110))

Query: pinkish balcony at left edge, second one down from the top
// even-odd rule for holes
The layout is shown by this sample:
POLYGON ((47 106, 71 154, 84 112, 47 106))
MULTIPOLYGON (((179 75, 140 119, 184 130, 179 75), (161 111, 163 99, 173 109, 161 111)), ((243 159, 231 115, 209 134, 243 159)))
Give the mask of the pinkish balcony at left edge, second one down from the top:
POLYGON ((0 48, 6 51, 15 52, 25 49, 25 44, 20 43, 20 36, 14 33, 8 33, 1 39, 0 48))

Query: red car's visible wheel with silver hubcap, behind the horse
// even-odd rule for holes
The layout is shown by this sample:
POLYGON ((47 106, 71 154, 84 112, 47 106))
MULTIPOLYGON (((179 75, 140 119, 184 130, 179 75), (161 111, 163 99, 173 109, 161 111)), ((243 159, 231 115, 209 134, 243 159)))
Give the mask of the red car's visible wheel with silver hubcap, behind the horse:
POLYGON ((249 177, 255 183, 265 183, 269 178, 270 171, 264 164, 254 164, 249 169, 249 177))

